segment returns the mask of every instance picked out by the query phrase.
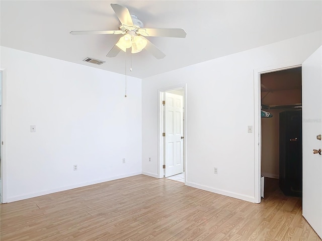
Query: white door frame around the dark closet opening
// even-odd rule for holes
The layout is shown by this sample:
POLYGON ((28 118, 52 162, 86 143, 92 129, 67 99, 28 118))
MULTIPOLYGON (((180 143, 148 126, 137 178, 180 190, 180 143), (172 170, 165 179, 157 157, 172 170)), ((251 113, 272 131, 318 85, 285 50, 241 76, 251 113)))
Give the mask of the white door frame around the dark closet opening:
POLYGON ((261 203, 261 176, 262 176, 262 123, 261 123, 261 74, 276 72, 286 69, 293 69, 301 67, 302 64, 287 65, 282 64, 278 66, 266 67, 261 69, 254 69, 254 201, 261 203))

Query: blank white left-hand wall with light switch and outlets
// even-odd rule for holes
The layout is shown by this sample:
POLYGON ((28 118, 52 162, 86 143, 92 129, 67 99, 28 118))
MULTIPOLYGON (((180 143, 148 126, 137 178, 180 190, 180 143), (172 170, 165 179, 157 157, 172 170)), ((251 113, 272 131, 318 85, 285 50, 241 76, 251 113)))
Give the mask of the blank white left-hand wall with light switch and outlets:
POLYGON ((141 173, 140 79, 125 98, 124 75, 6 47, 0 68, 4 202, 141 173))

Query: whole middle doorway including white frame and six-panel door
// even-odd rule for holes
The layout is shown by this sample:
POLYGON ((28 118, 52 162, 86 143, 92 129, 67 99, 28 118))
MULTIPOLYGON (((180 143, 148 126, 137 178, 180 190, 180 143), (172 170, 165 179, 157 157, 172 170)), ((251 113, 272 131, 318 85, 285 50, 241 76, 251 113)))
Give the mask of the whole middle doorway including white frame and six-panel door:
POLYGON ((186 84, 159 89, 158 177, 186 182, 186 84))

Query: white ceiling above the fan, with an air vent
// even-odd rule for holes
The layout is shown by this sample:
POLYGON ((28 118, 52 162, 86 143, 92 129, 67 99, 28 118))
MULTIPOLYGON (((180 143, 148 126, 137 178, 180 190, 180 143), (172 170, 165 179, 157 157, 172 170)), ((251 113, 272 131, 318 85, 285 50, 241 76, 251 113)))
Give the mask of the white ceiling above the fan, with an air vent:
MULTIPOLYGON (((3 1, 1 45, 125 74, 124 52, 106 54, 120 35, 70 35, 117 30, 111 3, 126 6, 146 28, 183 28, 187 37, 150 37, 166 57, 132 55, 132 72, 145 78, 322 29, 322 1, 3 1), (106 61, 83 62, 86 57, 106 61)), ((129 58, 127 69, 129 69, 129 58)))

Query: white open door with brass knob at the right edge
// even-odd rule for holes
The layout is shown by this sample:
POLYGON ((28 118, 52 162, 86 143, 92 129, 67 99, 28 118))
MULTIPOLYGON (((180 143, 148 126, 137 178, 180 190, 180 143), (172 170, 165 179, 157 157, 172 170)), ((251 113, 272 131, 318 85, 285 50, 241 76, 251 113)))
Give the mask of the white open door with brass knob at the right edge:
POLYGON ((302 64, 303 216, 322 238, 322 46, 302 64))

